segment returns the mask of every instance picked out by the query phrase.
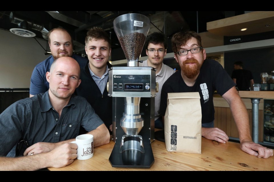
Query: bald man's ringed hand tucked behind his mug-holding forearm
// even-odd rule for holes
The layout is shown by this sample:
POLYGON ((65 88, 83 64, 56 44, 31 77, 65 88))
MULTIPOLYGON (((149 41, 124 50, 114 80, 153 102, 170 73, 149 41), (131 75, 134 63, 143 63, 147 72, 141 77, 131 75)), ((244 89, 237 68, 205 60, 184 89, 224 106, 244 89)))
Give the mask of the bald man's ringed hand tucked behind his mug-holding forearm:
POLYGON ((58 146, 57 143, 38 142, 38 143, 33 144, 32 146, 28 147, 24 152, 24 156, 39 154, 42 152, 50 152, 57 146, 58 146))

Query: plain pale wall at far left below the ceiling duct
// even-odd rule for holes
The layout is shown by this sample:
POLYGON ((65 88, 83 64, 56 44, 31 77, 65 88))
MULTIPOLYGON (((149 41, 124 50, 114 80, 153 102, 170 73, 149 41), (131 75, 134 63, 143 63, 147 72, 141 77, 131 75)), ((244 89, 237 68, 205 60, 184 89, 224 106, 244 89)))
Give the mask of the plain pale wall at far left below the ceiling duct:
MULTIPOLYGON (((47 48, 47 41, 37 39, 47 48)), ((34 67, 50 55, 34 38, 0 30, 0 88, 29 88, 34 67)))

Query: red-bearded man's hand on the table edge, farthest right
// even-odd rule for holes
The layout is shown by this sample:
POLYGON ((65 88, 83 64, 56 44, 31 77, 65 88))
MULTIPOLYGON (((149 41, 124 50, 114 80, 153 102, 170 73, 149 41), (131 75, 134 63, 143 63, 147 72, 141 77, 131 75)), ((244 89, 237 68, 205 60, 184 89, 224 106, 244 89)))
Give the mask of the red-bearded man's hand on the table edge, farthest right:
POLYGON ((246 152, 247 154, 256 156, 258 158, 269 158, 273 156, 273 150, 260 144, 254 143, 250 140, 242 140, 240 145, 241 150, 246 152))

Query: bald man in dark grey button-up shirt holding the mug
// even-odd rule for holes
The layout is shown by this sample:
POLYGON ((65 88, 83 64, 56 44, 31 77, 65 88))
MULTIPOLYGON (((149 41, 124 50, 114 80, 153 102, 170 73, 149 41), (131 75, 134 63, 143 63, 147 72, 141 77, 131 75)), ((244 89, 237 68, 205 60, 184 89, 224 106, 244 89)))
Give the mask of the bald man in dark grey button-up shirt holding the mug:
POLYGON ((85 98, 72 95, 81 83, 77 61, 55 59, 46 77, 47 92, 19 100, 0 115, 0 156, 6 156, 20 140, 29 146, 22 157, 0 157, 0 170, 37 170, 72 163, 77 145, 69 142, 75 140, 80 126, 94 136, 94 147, 109 143, 108 129, 94 109, 85 98))

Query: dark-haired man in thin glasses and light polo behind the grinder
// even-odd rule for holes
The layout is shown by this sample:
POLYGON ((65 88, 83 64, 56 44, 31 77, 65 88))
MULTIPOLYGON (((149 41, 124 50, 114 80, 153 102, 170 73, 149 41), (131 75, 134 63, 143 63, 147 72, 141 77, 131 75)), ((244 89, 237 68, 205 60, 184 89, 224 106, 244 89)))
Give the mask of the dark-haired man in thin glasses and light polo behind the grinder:
POLYGON ((163 63, 166 55, 167 38, 165 34, 154 32, 150 34, 145 42, 146 55, 148 59, 139 63, 139 66, 153 67, 156 69, 156 82, 159 84, 159 91, 155 97, 155 128, 164 129, 163 120, 160 116, 161 90, 164 82, 175 73, 175 70, 163 63))

